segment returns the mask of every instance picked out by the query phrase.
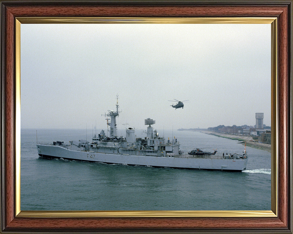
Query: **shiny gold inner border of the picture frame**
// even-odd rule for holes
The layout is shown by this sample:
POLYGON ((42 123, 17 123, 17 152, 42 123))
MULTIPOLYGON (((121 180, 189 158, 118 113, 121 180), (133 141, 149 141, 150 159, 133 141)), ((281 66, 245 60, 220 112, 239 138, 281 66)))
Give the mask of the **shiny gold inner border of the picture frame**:
POLYGON ((277 17, 139 18, 139 17, 16 17, 16 217, 277 217, 277 17), (271 211, 21 211, 20 209, 20 29, 22 23, 261 23, 271 24, 271 211))

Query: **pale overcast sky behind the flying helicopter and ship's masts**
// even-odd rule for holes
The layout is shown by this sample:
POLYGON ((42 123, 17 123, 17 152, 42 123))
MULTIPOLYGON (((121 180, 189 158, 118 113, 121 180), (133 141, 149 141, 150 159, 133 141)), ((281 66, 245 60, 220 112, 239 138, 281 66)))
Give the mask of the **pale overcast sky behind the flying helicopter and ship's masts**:
POLYGON ((21 24, 21 128, 271 126, 270 27, 21 24))

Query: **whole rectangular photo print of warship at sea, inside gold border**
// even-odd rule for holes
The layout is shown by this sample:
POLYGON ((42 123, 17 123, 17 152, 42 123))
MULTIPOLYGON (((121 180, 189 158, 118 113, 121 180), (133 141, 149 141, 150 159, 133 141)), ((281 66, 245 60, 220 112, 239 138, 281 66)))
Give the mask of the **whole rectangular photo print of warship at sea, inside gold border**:
POLYGON ((271 210, 270 24, 20 29, 21 210, 271 210))

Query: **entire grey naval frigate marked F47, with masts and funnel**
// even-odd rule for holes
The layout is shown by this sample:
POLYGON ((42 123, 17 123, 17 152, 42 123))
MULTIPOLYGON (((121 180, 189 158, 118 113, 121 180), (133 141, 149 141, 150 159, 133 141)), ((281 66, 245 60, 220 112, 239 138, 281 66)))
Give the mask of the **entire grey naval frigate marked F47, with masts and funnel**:
MULTIPOLYGON (((69 143, 54 141, 52 144, 37 143, 38 155, 42 158, 63 158, 64 160, 101 162, 106 164, 141 165, 152 167, 209 169, 222 171, 243 171, 248 157, 226 154, 216 156, 216 152, 205 152, 195 149, 188 154, 180 151, 177 139, 165 140, 159 136, 152 125, 153 119, 145 119, 147 136, 136 138, 135 129, 127 128, 126 137, 117 135, 116 117, 119 115, 118 99, 116 111, 108 110, 105 116, 110 117, 110 137, 104 130, 92 137, 92 142, 72 140, 69 143)), ((108 119, 108 118, 107 118, 108 119)), ((107 120, 108 121, 108 120, 107 120)), ((244 148, 245 149, 245 148, 244 148)))

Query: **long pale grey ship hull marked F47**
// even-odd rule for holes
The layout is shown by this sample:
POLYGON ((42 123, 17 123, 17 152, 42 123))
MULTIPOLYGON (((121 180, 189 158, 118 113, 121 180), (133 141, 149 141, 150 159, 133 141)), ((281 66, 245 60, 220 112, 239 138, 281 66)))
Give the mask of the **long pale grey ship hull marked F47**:
POLYGON ((107 164, 140 165, 152 167, 170 167, 185 169, 208 169, 222 171, 243 171, 246 168, 246 159, 219 159, 216 158, 180 158, 156 157, 142 155, 96 153, 90 151, 74 151, 62 146, 37 144, 38 154, 42 158, 63 158, 66 160, 102 162, 107 164))

